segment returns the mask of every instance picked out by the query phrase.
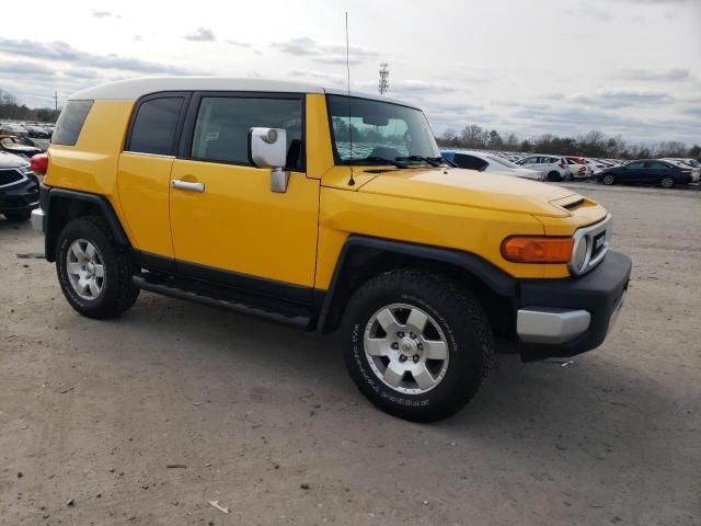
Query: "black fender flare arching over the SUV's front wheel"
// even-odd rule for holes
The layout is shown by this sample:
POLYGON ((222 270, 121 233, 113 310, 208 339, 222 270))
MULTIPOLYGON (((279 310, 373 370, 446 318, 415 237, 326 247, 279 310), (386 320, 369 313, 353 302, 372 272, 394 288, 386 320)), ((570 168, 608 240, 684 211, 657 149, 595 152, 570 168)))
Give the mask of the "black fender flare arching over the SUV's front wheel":
POLYGON ((332 329, 331 325, 333 322, 330 320, 330 313, 334 307, 334 300, 337 299, 336 293, 340 288, 340 284, 344 279, 344 273, 348 267, 348 262, 352 260, 354 252, 363 250, 384 252, 401 256, 415 258, 417 260, 449 264, 469 273, 498 296, 514 298, 517 295, 517 279, 509 276, 501 268, 497 268, 483 258, 470 252, 352 235, 341 249, 329 290, 324 294, 321 311, 319 313, 319 322, 317 324, 319 332, 329 332, 332 329))

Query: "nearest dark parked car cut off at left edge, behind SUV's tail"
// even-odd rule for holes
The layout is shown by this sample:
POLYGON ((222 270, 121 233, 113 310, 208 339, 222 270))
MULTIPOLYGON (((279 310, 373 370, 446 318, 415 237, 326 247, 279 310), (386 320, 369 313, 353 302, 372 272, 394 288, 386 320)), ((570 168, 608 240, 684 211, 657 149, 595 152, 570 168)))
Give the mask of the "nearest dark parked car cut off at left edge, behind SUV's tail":
POLYGON ((26 221, 38 204, 38 181, 26 158, 0 151, 0 214, 26 221))

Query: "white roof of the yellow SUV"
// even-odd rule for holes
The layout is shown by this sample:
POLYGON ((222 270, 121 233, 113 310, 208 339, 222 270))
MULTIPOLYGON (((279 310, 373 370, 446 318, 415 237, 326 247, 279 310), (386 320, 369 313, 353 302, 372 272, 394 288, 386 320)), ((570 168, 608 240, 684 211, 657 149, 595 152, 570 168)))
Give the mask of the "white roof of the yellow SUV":
MULTIPOLYGON (((304 82, 290 82, 286 80, 239 79, 231 77, 148 77, 140 79, 120 80, 108 84, 88 88, 73 93, 69 101, 80 100, 114 100, 136 101, 150 93, 161 91, 261 91, 268 93, 332 93, 345 95, 347 91, 336 88, 323 88, 318 84, 304 82)), ((352 96, 374 99, 378 101, 399 103, 412 106, 401 101, 387 96, 368 93, 350 92, 352 96)))

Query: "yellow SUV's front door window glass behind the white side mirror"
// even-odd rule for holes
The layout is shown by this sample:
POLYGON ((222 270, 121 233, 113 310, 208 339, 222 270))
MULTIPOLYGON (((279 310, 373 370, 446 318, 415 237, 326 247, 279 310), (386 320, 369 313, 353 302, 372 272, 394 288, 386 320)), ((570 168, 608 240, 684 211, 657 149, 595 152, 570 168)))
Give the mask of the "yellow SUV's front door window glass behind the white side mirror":
POLYGON ((204 96, 197 112, 191 157, 250 167, 249 130, 252 127, 287 130, 286 168, 303 170, 300 99, 204 96))

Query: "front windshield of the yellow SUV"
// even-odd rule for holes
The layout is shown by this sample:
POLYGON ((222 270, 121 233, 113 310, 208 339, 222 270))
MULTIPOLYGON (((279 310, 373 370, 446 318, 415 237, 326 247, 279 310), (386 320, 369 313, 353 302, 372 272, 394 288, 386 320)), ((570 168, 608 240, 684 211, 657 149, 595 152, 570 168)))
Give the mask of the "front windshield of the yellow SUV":
POLYGON ((327 95, 326 101, 336 162, 440 160, 434 134, 420 110, 343 95, 327 95))

